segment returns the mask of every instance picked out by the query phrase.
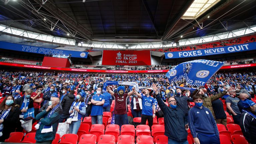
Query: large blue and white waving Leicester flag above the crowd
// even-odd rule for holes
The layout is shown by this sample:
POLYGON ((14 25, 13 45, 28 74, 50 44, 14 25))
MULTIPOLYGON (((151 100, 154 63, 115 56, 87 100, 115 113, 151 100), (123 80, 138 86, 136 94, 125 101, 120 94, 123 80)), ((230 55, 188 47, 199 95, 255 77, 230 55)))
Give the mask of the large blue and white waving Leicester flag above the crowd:
POLYGON ((181 63, 166 73, 169 82, 183 78, 191 86, 204 86, 205 83, 222 67, 224 62, 212 60, 193 60, 181 63))

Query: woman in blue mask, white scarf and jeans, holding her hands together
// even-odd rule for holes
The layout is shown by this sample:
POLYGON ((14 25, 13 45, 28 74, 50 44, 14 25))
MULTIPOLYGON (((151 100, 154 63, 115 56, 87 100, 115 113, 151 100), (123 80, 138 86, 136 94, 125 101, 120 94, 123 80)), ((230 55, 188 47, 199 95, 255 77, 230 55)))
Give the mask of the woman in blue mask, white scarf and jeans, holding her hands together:
POLYGON ((69 124, 69 133, 76 134, 81 125, 81 118, 86 113, 84 98, 81 95, 76 95, 76 101, 72 103, 69 113, 72 118, 72 122, 69 124))

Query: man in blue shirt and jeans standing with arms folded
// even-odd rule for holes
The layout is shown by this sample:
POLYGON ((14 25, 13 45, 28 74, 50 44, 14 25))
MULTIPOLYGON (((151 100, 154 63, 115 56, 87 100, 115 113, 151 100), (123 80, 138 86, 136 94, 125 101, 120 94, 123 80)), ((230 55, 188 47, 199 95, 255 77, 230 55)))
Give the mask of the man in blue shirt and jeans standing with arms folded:
POLYGON ((92 124, 102 124, 102 115, 103 115, 103 105, 105 103, 105 96, 101 94, 101 88, 97 88, 96 95, 92 96, 91 99, 92 110, 91 110, 91 117, 92 117, 92 124))

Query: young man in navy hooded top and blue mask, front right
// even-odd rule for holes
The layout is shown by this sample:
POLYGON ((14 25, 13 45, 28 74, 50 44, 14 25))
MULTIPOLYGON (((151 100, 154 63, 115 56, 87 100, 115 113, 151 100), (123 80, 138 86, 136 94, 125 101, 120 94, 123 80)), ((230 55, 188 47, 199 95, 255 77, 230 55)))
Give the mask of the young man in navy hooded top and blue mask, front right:
POLYGON ((203 106, 203 95, 193 96, 195 106, 189 110, 188 123, 195 144, 220 144, 219 131, 211 111, 203 106))

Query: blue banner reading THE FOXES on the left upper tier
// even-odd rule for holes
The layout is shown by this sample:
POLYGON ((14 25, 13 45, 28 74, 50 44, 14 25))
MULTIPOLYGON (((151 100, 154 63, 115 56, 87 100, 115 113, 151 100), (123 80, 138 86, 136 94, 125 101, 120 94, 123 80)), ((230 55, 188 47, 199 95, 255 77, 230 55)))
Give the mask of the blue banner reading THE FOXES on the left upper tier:
POLYGON ((38 54, 52 53, 54 55, 66 55, 66 56, 71 54, 71 57, 77 57, 77 58, 87 58, 87 56, 88 56, 88 52, 35 47, 35 46, 9 43, 9 42, 3 42, 3 41, 0 41, 0 48, 8 49, 8 50, 15 50, 15 51, 22 51, 22 52, 29 52, 29 53, 38 53, 38 54))

